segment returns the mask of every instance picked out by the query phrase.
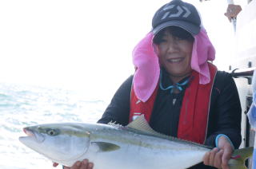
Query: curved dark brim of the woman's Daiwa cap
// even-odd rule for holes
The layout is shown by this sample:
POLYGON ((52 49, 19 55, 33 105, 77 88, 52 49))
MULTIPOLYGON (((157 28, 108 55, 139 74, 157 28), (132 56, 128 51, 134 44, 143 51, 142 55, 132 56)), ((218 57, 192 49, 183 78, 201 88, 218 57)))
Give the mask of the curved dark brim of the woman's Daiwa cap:
POLYGON ((160 32, 162 29, 168 27, 168 26, 178 26, 181 27, 182 29, 186 29, 189 33, 192 35, 196 35, 200 32, 200 26, 195 26, 194 24, 190 22, 183 22, 183 21, 169 21, 169 22, 164 22, 160 24, 159 26, 155 27, 152 32, 153 34, 157 34, 160 32))

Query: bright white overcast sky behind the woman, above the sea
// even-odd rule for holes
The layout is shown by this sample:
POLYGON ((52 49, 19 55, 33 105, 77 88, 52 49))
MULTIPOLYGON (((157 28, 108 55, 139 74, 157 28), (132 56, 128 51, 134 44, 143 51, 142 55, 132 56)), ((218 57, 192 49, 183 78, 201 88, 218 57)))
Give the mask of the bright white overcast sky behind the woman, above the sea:
MULTIPOLYGON (((166 2, 0 1, 0 82, 112 96, 134 73, 134 45, 150 31, 154 12, 166 2)), ((216 64, 226 69, 234 48, 233 27, 223 15, 227 2, 187 2, 198 6, 217 50, 216 64)))

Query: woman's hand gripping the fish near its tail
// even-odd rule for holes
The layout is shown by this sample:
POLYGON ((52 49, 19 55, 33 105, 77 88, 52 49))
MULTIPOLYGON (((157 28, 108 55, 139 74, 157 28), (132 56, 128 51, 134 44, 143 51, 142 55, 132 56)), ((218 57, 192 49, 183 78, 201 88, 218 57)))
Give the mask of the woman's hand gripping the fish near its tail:
POLYGON ((208 166, 230 169, 228 161, 233 151, 234 148, 230 144, 230 141, 227 140, 226 137, 220 136, 218 139, 218 148, 214 147, 212 151, 207 152, 203 157, 203 163, 208 166))

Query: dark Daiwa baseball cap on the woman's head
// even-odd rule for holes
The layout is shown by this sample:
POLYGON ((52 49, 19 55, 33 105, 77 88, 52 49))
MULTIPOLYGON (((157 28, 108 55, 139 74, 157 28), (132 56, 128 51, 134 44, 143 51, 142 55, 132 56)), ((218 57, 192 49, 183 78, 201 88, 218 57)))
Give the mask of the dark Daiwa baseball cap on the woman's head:
POLYGON ((173 0, 154 14, 152 26, 154 34, 167 26, 179 26, 196 35, 200 31, 201 19, 198 10, 193 5, 181 0, 173 0))

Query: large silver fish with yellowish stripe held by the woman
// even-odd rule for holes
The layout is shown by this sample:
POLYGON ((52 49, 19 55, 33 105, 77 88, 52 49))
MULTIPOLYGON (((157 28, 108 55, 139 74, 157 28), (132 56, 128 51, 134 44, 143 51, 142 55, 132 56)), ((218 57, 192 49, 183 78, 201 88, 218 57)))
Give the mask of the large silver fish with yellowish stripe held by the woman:
MULTIPOLYGON (((126 127, 117 124, 60 123, 24 128, 19 140, 56 163, 72 166, 89 159, 95 169, 179 169, 202 162, 210 147, 154 132, 139 116, 126 127)), ((236 150, 230 168, 242 169, 253 148, 236 150)))

